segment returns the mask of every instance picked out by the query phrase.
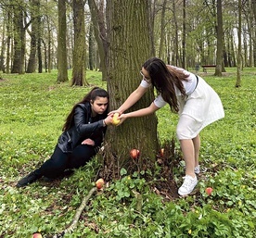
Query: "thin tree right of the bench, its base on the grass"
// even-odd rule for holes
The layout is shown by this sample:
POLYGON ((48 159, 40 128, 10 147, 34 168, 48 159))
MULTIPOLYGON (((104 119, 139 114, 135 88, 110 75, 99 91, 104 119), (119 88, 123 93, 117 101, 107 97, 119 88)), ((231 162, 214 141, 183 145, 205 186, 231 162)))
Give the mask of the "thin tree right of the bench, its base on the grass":
POLYGON ((238 37, 238 50, 237 50, 237 81, 236 87, 241 86, 241 70, 242 70, 242 3, 241 0, 238 0, 238 28, 237 28, 237 37, 238 37))

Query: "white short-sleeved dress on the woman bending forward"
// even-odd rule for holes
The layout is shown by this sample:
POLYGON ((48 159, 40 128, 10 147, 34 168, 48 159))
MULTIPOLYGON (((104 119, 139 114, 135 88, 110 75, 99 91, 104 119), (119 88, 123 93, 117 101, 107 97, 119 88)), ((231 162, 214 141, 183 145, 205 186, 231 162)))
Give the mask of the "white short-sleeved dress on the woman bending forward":
MULTIPOLYGON (((180 69, 180 68, 176 68, 180 69)), ((218 94, 211 88, 211 86, 198 76, 183 70, 186 74, 189 74, 188 81, 183 81, 186 96, 183 96, 181 92, 175 88, 176 97, 179 104, 179 116, 180 121, 191 119, 185 127, 189 127, 183 134, 177 133, 178 139, 193 139, 198 133, 207 125, 213 121, 224 118, 224 107, 218 94), (196 87, 197 85, 197 87, 196 87), (196 89, 195 89, 196 87, 196 89), (186 118, 186 119, 185 119, 186 118)), ((148 88, 151 83, 142 80, 140 85, 148 88)), ((163 100, 161 94, 159 94, 154 100, 154 104, 158 107, 165 106, 167 103, 163 100)))

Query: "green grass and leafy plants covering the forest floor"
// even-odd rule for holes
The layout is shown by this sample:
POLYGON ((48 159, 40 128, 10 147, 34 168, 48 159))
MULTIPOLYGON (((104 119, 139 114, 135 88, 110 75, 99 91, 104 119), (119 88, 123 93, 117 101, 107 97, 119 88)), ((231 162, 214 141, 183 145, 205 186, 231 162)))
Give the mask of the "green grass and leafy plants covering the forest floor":
MULTIPOLYGON (((95 195, 77 229, 65 237, 255 237, 256 69, 243 70, 240 88, 235 88, 236 69, 227 71, 222 78, 201 73, 221 96, 225 118, 200 133, 200 163, 208 170, 197 193, 163 202, 140 175, 122 171, 122 180, 95 195), (205 194, 208 186, 211 196, 205 194)), ((51 155, 71 106, 93 85, 106 83, 95 71, 87 72, 88 88, 56 84, 57 71, 2 77, 0 237, 31 237, 37 231, 47 237, 70 224, 94 186, 99 158, 52 185, 35 182, 17 189, 15 184, 51 155)), ((158 118, 160 141, 171 140, 177 115, 165 106, 158 118)), ((180 182, 183 169, 175 172, 180 182)))

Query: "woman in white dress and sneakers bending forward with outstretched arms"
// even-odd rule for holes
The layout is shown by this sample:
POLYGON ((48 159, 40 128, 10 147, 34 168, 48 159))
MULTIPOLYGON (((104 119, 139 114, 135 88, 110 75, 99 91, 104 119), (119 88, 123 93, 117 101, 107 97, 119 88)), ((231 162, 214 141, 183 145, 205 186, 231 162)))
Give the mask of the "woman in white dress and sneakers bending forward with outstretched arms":
POLYGON ((125 119, 152 114, 169 104, 171 110, 179 114, 176 134, 186 163, 186 177, 178 194, 190 194, 198 183, 199 132, 211 122, 224 118, 221 99, 202 78, 186 69, 166 65, 158 57, 147 59, 140 73, 143 77, 140 85, 122 106, 110 113, 119 112, 122 123, 125 119), (159 93, 154 102, 148 107, 124 113, 151 85, 159 93))

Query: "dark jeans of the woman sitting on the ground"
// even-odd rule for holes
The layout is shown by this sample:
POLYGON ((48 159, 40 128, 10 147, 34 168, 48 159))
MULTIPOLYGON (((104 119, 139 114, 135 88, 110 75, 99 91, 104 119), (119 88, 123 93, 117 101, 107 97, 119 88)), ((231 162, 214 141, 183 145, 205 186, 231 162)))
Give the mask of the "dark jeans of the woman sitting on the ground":
POLYGON ((63 153, 58 145, 55 147, 52 157, 34 172, 38 177, 57 178, 66 169, 78 169, 83 167, 92 157, 96 155, 96 147, 80 144, 74 148, 72 153, 63 153))

